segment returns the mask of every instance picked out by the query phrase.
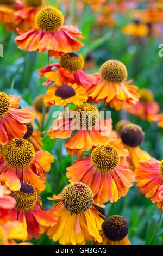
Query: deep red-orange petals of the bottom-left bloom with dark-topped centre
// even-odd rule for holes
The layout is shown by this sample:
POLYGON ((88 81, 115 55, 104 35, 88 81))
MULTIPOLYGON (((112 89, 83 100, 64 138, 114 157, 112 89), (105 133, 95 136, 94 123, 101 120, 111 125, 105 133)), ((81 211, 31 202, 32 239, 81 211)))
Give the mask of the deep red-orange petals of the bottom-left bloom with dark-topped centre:
POLYGON ((39 238, 45 232, 46 227, 52 227, 58 221, 55 211, 45 211, 41 205, 36 204, 32 210, 18 211, 12 209, 12 220, 18 220, 26 227, 28 236, 27 240, 33 237, 39 238))

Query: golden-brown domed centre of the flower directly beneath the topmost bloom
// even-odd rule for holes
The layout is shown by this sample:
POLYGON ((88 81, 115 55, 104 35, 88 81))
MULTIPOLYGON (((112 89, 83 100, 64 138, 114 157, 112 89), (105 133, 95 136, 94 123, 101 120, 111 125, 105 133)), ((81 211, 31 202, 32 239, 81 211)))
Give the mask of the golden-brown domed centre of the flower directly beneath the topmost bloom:
POLYGON ((84 60, 82 55, 76 53, 66 53, 60 58, 60 66, 70 72, 77 72, 83 69, 84 60))

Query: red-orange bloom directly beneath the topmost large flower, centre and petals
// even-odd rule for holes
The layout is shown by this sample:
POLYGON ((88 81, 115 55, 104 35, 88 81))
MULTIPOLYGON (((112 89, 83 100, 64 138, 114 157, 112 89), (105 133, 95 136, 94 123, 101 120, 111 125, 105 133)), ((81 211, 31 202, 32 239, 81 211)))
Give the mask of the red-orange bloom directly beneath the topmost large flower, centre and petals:
POLYGON ((38 72, 39 77, 46 77, 47 81, 43 85, 47 86, 52 81, 58 86, 61 84, 77 83, 83 87, 91 87, 96 84, 96 74, 88 75, 83 71, 84 59, 77 53, 66 53, 60 58, 60 62, 45 66, 38 72))

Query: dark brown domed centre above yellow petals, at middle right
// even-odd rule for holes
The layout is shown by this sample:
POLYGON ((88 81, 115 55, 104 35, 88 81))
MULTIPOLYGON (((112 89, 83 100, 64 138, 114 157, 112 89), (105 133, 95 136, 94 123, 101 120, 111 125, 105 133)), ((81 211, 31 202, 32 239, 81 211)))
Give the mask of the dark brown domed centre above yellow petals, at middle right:
POLYGON ((130 147, 140 146, 144 137, 145 133, 143 133, 139 125, 128 124, 121 131, 122 142, 130 147))

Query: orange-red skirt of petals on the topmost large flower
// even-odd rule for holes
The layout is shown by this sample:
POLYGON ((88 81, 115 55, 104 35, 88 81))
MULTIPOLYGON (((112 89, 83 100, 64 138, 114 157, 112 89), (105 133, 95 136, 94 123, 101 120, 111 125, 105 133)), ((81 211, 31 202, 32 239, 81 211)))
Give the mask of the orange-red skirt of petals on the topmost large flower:
POLYGON ((51 55, 78 51, 83 43, 77 39, 84 39, 79 29, 72 25, 64 25, 54 32, 41 31, 34 28, 28 31, 17 29, 20 36, 15 38, 19 49, 26 51, 45 52, 49 50, 51 55), (77 39, 75 39, 77 38, 77 39))

